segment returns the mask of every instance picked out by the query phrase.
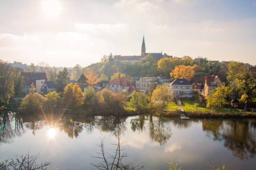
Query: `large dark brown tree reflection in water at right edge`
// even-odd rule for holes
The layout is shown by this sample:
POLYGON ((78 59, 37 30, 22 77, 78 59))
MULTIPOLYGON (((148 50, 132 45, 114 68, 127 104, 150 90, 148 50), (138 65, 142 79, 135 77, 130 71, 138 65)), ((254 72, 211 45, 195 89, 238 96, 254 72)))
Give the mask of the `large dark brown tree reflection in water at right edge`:
POLYGON ((224 146, 241 160, 255 157, 255 120, 203 119, 203 130, 213 136, 213 140, 224 140, 224 146))

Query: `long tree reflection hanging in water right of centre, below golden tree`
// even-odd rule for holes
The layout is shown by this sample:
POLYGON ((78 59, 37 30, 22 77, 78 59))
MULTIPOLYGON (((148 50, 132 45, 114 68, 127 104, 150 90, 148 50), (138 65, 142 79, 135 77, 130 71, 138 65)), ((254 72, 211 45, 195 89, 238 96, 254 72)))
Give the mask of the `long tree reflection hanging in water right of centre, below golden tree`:
POLYGON ((160 145, 166 144, 172 136, 171 129, 164 127, 164 117, 157 117, 157 121, 149 116, 149 136, 160 145))

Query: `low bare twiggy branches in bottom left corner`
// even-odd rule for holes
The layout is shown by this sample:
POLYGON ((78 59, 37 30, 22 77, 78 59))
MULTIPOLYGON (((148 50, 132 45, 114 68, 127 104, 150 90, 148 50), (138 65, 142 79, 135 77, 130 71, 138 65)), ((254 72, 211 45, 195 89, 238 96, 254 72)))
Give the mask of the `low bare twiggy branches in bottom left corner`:
MULTIPOLYGON (((38 153, 39 155, 39 153, 38 153)), ((46 170, 47 166, 51 162, 41 162, 40 164, 36 163, 38 155, 30 156, 29 152, 26 155, 16 156, 16 159, 5 160, 0 162, 1 170, 46 170)))

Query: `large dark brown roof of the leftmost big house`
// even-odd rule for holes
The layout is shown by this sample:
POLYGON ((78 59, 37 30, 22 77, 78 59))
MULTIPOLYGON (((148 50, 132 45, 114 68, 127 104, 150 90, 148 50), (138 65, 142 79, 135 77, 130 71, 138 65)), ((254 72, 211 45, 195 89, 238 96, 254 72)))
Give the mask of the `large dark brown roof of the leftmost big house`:
POLYGON ((32 83, 36 86, 36 80, 46 80, 45 72, 22 72, 23 82, 25 86, 30 86, 32 83))

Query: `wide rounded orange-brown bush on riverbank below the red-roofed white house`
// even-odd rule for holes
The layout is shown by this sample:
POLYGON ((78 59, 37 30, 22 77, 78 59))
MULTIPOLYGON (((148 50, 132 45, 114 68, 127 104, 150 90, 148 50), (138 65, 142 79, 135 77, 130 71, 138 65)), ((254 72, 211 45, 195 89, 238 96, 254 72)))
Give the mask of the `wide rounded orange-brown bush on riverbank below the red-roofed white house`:
POLYGON ((101 112, 109 110, 120 112, 125 108, 126 101, 127 96, 107 89, 98 91, 93 98, 95 109, 98 109, 98 111, 101 112))

